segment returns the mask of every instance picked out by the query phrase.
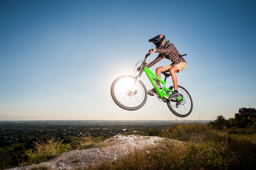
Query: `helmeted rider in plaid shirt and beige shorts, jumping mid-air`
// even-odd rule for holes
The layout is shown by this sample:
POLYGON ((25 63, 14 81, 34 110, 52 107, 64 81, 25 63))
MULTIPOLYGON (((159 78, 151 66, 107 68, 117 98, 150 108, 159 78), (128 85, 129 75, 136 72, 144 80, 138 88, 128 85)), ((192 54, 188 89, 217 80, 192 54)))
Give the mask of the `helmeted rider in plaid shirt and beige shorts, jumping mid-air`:
MULTIPOLYGON (((153 60, 151 63, 147 65, 148 68, 152 67, 156 63, 158 63, 163 58, 166 58, 170 60, 172 63, 171 65, 164 65, 161 67, 157 67, 155 69, 156 75, 161 78, 161 72, 170 72, 172 78, 173 78, 173 86, 174 86, 174 92, 171 94, 169 99, 176 99, 180 97, 180 94, 178 93, 178 80, 176 73, 183 71, 186 68, 186 60, 180 55, 179 51, 176 49, 176 47, 169 43, 169 40, 166 41, 166 38, 163 34, 159 34, 155 36, 154 38, 151 38, 148 40, 148 42, 153 42, 155 44, 156 48, 153 50, 149 50, 148 52, 150 54, 153 54, 154 52, 160 53, 155 60, 153 60)), ((157 82, 159 85, 159 82, 157 82)), ((148 91, 148 94, 150 96, 153 96, 153 93, 157 93, 155 88, 148 91)))

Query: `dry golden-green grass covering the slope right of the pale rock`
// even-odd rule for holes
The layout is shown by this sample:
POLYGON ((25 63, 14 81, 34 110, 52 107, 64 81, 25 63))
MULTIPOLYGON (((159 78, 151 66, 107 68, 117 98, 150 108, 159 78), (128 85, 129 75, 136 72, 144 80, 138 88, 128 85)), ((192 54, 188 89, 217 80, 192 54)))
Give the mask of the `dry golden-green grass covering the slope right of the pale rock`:
POLYGON ((175 125, 160 134, 184 143, 165 140, 87 170, 250 170, 256 166, 255 136, 230 134, 200 123, 175 125))

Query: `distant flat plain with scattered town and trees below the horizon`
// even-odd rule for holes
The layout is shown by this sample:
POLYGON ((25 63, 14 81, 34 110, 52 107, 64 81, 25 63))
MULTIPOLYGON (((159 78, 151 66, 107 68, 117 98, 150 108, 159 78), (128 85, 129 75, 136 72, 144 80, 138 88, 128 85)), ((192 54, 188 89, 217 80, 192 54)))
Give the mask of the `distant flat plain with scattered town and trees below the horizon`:
MULTIPOLYGON (((29 140, 43 137, 68 137, 90 133, 92 136, 115 135, 141 128, 155 126, 166 128, 182 121, 0 121, 0 147, 11 143, 26 143, 29 140), (125 129, 125 130, 124 130, 125 129)), ((198 121, 190 121, 198 122, 198 121)), ((208 123, 209 121, 200 121, 208 123)), ((189 123, 189 121, 187 121, 189 123)))

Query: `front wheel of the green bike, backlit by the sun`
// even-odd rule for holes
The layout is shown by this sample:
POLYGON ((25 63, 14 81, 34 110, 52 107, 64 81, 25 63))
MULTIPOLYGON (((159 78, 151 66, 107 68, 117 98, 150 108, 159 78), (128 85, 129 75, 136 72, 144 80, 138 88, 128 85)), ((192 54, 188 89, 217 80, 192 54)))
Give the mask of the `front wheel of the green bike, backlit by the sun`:
POLYGON ((125 75, 116 78, 111 85, 113 101, 124 110, 138 110, 147 101, 146 86, 140 80, 134 85, 135 81, 135 76, 125 75))

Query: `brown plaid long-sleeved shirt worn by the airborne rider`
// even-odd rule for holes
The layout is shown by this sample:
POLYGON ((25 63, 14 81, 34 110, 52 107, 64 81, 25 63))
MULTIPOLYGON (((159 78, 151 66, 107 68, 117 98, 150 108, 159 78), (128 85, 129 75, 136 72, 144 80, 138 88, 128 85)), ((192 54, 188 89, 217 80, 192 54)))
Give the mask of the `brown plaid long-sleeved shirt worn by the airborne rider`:
POLYGON ((147 65, 148 68, 152 67, 156 63, 158 63, 163 58, 166 58, 170 60, 172 63, 178 64, 180 62, 185 62, 186 60, 183 57, 180 57, 179 51, 176 49, 176 47, 169 43, 168 47, 165 49, 156 49, 156 53, 160 53, 155 60, 153 60, 151 63, 147 65))

